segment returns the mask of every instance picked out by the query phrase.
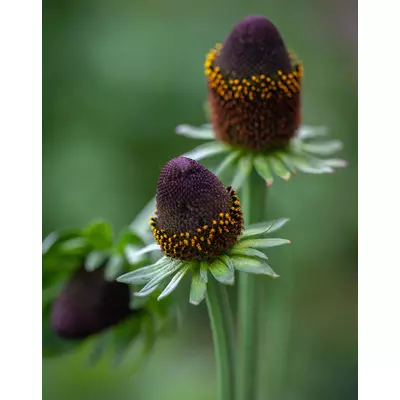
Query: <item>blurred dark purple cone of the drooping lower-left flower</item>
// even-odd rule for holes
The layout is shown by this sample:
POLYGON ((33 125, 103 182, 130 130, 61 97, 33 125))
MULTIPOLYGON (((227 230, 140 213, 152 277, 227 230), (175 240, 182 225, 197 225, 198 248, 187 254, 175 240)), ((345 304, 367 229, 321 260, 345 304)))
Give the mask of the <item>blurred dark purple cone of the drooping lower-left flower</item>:
POLYGON ((52 329, 64 339, 84 339, 128 317, 129 287, 104 279, 104 267, 93 272, 79 268, 51 311, 52 329))

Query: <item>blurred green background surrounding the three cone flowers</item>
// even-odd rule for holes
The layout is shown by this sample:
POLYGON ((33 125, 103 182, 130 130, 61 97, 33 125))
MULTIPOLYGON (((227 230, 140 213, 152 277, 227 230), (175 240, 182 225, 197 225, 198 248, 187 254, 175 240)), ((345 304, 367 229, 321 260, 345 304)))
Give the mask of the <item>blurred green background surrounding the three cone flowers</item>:
MULTIPOLYGON (((251 14, 270 18, 302 59, 303 121, 327 125, 349 162, 332 176, 277 182, 269 194, 269 218, 291 218, 279 236, 292 245, 272 249, 282 278, 263 282, 262 382, 269 399, 355 399, 355 0, 44 0, 43 236, 96 217, 116 231, 133 220, 162 166, 200 143, 174 128, 206 122, 206 52, 251 14)), ((215 399, 205 306, 186 305, 187 296, 181 285, 182 328, 136 375, 106 358, 87 368, 84 346, 43 361, 43 398, 215 399)))

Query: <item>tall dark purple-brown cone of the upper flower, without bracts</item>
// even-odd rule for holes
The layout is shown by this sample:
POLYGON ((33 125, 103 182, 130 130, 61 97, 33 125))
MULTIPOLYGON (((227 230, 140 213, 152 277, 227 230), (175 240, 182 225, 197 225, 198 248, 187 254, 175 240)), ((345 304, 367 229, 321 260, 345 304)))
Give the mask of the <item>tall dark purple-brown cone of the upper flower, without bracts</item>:
POLYGON ((259 152, 289 143, 300 125, 303 68, 271 21, 239 21, 207 55, 205 74, 218 139, 259 152))

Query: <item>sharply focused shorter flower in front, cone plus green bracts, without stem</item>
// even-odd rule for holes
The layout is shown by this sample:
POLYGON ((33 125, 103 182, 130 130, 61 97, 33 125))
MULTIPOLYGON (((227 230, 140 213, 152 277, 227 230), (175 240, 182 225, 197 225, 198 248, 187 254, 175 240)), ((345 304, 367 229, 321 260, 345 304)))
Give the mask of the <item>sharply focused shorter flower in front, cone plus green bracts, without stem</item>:
POLYGON ((225 188, 197 161, 177 157, 164 166, 156 204, 156 216, 150 220, 156 244, 137 254, 161 250, 164 255, 155 263, 117 278, 122 283, 144 285, 135 293, 137 297, 157 292, 161 300, 172 293, 189 271, 190 303, 194 305, 205 297, 209 273, 226 285, 234 284, 235 269, 278 277, 267 264, 267 256, 258 249, 290 243, 286 239, 264 238, 288 220, 245 229, 236 192, 225 188))

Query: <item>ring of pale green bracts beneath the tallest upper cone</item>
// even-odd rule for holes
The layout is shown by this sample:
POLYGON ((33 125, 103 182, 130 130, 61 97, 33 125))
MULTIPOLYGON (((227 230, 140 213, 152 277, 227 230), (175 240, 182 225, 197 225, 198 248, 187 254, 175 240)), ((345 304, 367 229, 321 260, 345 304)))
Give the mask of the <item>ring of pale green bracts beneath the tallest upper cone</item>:
POLYGON ((339 140, 321 140, 328 132, 323 127, 301 126, 296 136, 283 149, 267 153, 256 153, 248 149, 231 146, 215 139, 212 125, 205 124, 199 128, 180 125, 176 132, 191 139, 209 139, 212 142, 196 147, 184 154, 194 160, 202 160, 215 155, 226 154, 217 167, 216 175, 220 178, 227 173, 233 173, 231 184, 238 190, 248 178, 252 168, 271 186, 274 177, 278 176, 288 181, 298 171, 308 174, 333 173, 334 168, 345 167, 346 162, 337 158, 321 158, 341 150, 339 140))

